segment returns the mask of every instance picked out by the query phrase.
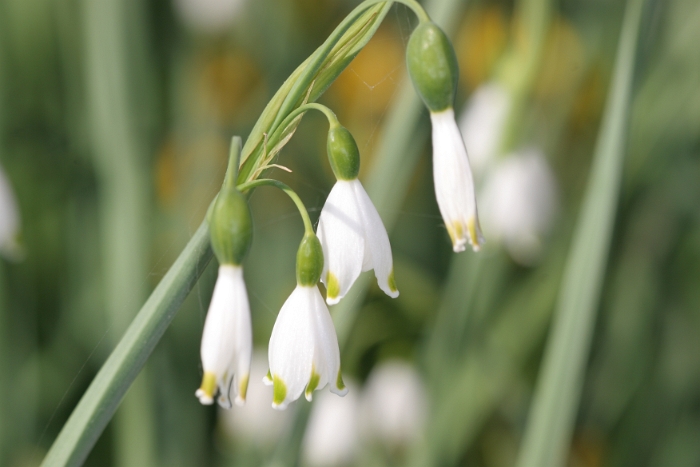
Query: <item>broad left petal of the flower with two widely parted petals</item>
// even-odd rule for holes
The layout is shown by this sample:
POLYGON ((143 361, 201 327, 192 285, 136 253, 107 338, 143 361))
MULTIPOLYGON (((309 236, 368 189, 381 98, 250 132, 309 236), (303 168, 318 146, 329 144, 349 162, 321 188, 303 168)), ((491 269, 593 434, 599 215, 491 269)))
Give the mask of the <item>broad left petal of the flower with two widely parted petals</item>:
POLYGON ((365 236, 353 182, 339 180, 328 195, 316 232, 323 247, 321 280, 328 304, 338 303, 362 271, 365 236))

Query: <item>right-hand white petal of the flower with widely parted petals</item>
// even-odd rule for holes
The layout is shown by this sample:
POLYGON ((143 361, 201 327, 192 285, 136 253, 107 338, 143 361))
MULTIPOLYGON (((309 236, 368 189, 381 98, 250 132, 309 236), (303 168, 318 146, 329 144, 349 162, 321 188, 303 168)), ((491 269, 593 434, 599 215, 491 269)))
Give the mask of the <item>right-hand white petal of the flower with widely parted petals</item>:
POLYGON ((377 277, 379 287, 390 297, 399 296, 399 291, 394 282, 394 264, 391 257, 391 245, 389 236, 384 228, 382 218, 379 217, 377 209, 369 199, 365 188, 359 180, 353 180, 353 188, 357 204, 362 216, 365 233, 365 257, 369 258, 368 265, 363 270, 374 268, 374 275, 377 277))

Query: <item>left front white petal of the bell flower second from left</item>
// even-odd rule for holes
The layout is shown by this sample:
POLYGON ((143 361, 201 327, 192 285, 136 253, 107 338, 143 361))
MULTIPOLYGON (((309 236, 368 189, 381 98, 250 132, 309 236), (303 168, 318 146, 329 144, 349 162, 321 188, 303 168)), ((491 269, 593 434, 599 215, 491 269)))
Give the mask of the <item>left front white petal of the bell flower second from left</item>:
MULTIPOLYGON (((273 382, 285 387, 283 400, 274 395, 273 407, 284 409, 299 398, 311 377, 314 356, 313 323, 309 306, 314 287, 297 286, 277 315, 268 356, 273 382)), ((277 387, 275 387, 277 392, 277 387)))

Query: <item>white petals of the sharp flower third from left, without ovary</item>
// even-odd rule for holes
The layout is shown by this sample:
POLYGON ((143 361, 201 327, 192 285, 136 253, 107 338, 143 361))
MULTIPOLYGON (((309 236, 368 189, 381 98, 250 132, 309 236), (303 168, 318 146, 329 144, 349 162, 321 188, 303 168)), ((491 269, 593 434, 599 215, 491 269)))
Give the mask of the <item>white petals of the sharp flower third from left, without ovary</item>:
POLYGON ((391 245, 379 213, 359 180, 338 180, 321 211, 316 232, 323 247, 326 301, 345 296, 362 271, 374 269, 379 287, 399 296, 391 245))

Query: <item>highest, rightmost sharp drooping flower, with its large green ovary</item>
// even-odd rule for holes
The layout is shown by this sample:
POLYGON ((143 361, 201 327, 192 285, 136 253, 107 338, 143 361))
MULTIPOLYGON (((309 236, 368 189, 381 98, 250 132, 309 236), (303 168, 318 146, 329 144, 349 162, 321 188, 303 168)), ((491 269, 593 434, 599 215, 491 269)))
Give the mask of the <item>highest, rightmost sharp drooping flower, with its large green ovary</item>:
POLYGON ((455 252, 467 242, 477 251, 484 242, 467 150, 452 108, 459 70, 454 49, 434 23, 422 21, 406 50, 408 72, 433 126, 433 177, 440 214, 455 252))

